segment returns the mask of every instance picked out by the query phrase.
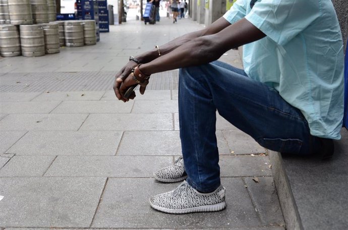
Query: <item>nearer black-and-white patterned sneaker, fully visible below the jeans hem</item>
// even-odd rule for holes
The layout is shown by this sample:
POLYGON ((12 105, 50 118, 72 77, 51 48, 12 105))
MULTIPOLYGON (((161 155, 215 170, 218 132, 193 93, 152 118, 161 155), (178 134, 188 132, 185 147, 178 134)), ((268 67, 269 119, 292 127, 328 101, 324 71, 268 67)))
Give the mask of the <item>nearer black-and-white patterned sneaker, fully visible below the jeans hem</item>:
POLYGON ((220 185, 211 193, 200 193, 184 181, 173 191, 151 197, 150 205, 174 214, 220 211, 226 207, 225 188, 220 185))

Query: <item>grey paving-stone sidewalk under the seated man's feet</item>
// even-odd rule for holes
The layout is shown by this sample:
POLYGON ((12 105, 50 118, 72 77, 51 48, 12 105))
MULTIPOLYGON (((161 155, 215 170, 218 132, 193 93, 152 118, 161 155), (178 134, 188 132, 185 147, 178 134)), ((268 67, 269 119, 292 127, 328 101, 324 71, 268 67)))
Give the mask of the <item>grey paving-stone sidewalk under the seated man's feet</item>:
MULTIPOLYGON (((129 55, 200 28, 129 21, 95 46, 0 58, 0 230, 285 229, 266 150, 218 114, 227 208, 175 215, 148 204, 179 185, 152 178, 181 155, 178 71, 152 76, 128 103, 115 100, 113 74, 129 55)), ((235 51, 221 60, 240 66, 235 51)))

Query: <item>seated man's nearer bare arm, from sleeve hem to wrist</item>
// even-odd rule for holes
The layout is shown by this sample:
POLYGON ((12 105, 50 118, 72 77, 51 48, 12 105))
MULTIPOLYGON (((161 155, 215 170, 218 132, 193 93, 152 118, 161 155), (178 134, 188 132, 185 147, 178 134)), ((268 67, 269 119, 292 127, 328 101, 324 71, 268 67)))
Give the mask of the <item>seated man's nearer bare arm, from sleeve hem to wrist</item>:
POLYGON ((259 40, 265 36, 248 20, 241 19, 218 33, 200 36, 185 42, 170 53, 142 64, 140 70, 150 75, 156 72, 209 63, 217 60, 231 48, 259 40))

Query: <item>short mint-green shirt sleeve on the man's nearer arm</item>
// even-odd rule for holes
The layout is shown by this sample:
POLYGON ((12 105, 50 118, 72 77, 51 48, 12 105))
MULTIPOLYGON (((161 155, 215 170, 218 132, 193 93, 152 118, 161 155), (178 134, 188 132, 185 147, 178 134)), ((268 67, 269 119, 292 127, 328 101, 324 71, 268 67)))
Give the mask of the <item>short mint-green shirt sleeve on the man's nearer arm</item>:
POLYGON ((318 0, 262 0, 245 18, 277 44, 284 45, 320 14, 318 0))

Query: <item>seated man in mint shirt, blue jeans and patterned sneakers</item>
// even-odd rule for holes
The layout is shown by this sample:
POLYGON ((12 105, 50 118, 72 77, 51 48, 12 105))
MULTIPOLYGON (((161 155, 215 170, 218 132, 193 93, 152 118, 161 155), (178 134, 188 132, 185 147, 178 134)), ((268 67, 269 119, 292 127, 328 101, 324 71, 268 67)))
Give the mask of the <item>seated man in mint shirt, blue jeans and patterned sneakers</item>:
MULTIPOLYGON (((330 0, 237 0, 206 29, 130 57, 116 75, 115 95, 127 102, 152 73, 180 68, 183 158, 155 173, 185 180, 150 198, 168 213, 225 208, 215 136, 216 110, 260 145, 297 155, 331 156, 343 117, 343 43, 330 0), (244 45, 244 70, 215 61, 244 45), (133 69, 133 72, 132 72, 133 69)), ((151 140, 149 140, 151 141, 151 140)))

